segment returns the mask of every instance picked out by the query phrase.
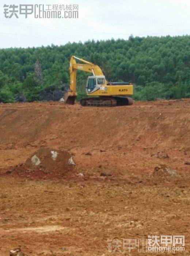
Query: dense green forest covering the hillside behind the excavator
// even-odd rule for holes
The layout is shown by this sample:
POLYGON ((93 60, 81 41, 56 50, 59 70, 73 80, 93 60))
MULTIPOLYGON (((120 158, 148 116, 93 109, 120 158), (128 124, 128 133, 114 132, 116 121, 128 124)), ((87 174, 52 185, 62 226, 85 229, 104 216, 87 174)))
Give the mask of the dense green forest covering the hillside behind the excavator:
MULTIPOLYGON (((135 100, 190 98, 190 36, 133 37, 61 46, 0 49, 0 102, 41 100, 43 90, 69 84, 72 55, 99 65, 106 79, 134 84, 135 100), (39 57, 43 82, 35 78, 39 57)), ((77 71, 78 100, 86 95, 86 72, 77 71)))

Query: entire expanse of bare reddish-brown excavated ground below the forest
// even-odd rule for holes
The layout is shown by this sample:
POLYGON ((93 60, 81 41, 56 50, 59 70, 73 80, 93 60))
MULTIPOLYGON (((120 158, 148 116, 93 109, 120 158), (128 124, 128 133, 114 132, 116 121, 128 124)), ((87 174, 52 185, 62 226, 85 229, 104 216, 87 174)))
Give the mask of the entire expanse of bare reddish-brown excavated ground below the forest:
POLYGON ((184 235, 188 256, 189 230, 189 99, 0 104, 0 255, 167 255, 107 239, 184 235))

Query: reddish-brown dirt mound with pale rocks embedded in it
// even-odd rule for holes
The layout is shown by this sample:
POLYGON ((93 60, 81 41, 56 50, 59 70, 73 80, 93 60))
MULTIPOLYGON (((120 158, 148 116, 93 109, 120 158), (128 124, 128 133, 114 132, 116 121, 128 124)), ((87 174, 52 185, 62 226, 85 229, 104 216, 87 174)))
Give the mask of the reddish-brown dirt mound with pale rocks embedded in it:
POLYGON ((5 169, 3 174, 36 179, 69 177, 73 176, 75 168, 75 165, 69 164, 71 157, 71 153, 66 150, 51 150, 42 146, 30 155, 25 163, 5 169), (34 158, 38 161, 34 161, 34 158))

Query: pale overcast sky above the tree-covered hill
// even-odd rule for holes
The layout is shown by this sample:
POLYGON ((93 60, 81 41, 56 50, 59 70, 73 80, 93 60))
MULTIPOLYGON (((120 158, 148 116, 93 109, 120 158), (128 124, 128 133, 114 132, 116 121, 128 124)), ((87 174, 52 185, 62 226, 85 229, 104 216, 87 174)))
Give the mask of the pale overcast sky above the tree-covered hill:
MULTIPOLYGON (((0 48, 64 45, 88 39, 106 40, 133 36, 146 37, 190 34, 190 0, 28 0, 27 4, 78 5, 78 19, 39 19, 34 14, 5 18, 0 1, 0 48)), ((8 11, 11 10, 8 8, 8 11)), ((9 16, 11 13, 8 13, 9 16)), ((64 15, 62 10, 61 15, 64 15)))

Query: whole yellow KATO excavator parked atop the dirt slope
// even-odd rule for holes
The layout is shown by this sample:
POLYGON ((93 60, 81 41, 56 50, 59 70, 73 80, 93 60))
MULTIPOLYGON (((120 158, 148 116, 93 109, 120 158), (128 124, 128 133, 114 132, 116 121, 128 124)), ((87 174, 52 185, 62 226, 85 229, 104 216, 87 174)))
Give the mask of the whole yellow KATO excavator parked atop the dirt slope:
POLYGON ((70 59, 70 89, 65 93, 65 103, 75 104, 76 93, 76 71, 91 72, 93 76, 88 76, 86 84, 86 93, 89 98, 83 98, 80 101, 81 106, 121 106, 132 105, 133 100, 128 96, 133 95, 133 85, 124 82, 106 81, 102 69, 91 62, 71 56, 70 59), (76 63, 76 60, 85 64, 76 63), (93 96, 93 97, 92 97, 93 96), (95 97, 94 97, 95 96, 95 97), (97 97, 98 96, 98 97, 97 97))

